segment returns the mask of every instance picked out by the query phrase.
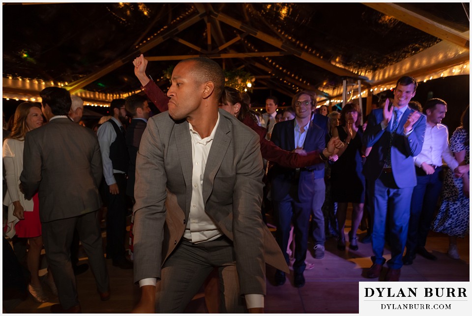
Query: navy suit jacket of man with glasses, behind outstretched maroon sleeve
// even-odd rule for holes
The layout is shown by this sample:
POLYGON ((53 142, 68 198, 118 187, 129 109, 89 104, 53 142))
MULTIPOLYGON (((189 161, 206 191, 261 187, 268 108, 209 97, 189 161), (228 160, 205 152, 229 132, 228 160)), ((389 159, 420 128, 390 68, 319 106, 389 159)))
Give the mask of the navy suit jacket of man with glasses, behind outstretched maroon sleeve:
MULTIPOLYGON (((306 152, 313 150, 323 150, 326 146, 327 117, 323 115, 319 120, 324 123, 325 127, 320 127, 315 123, 315 119, 310 122, 308 131, 303 144, 306 152), (324 118, 325 119, 324 119, 324 118)), ((295 119, 289 121, 278 122, 272 131, 270 141, 282 149, 292 151, 295 149, 295 119)), ((306 168, 301 168, 300 172, 313 172, 314 178, 324 178, 324 162, 318 163, 306 168)), ((272 199, 274 201, 282 201, 289 193, 297 198, 298 178, 295 169, 283 168, 275 165, 270 170, 269 178, 272 181, 272 199)), ((300 177, 301 178, 301 177, 300 177)))

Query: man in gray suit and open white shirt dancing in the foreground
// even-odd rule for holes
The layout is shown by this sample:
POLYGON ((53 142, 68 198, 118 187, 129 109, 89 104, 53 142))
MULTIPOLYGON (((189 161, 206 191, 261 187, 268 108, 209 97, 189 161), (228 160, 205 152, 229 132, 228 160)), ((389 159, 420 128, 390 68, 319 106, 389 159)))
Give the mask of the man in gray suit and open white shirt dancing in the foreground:
POLYGON ((224 80, 211 59, 180 61, 169 111, 148 121, 136 161, 134 312, 182 313, 218 267, 220 312, 260 313, 265 263, 288 271, 262 221, 259 136, 218 110, 224 80))

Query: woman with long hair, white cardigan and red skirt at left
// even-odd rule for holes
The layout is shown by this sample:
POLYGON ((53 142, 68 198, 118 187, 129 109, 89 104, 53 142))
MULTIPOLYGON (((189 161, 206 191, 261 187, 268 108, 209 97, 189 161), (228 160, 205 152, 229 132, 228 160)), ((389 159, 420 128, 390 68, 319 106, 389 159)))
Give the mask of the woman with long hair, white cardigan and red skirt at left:
POLYGON ((10 238, 15 235, 19 238, 28 238, 27 265, 31 274, 28 290, 38 303, 48 301, 38 274, 43 248, 41 222, 39 221, 39 200, 37 194, 31 200, 25 200, 19 184, 20 174, 23 171, 25 135, 42 124, 41 107, 37 103, 23 102, 15 111, 11 134, 3 142, 3 164, 7 183, 7 193, 3 204, 8 205, 5 234, 10 238))

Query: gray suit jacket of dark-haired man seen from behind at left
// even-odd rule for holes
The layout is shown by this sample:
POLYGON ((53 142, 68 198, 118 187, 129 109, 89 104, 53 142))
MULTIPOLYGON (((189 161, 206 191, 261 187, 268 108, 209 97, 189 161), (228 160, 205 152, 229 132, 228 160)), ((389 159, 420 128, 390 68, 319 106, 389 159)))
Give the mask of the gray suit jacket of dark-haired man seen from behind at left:
POLYGON ((53 119, 26 134, 20 180, 27 199, 39 190, 41 222, 99 209, 102 172, 95 134, 69 118, 53 119))

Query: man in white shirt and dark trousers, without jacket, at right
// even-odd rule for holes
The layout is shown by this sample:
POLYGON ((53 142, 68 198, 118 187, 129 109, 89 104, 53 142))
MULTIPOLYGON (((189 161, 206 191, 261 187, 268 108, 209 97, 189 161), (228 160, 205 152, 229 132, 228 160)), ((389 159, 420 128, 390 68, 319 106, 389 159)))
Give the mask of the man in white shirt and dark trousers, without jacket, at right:
POLYGON ((459 166, 449 151, 447 127, 441 124, 446 112, 446 102, 438 98, 428 100, 423 109, 426 115, 426 131, 421 153, 414 157, 417 184, 412 195, 407 252, 403 257, 405 265, 413 263, 415 254, 429 260, 436 260, 436 256, 428 252, 424 246, 438 199, 441 196, 442 160, 452 170, 459 166))

